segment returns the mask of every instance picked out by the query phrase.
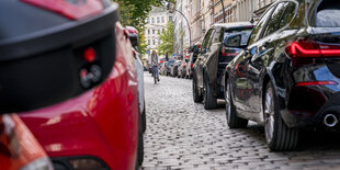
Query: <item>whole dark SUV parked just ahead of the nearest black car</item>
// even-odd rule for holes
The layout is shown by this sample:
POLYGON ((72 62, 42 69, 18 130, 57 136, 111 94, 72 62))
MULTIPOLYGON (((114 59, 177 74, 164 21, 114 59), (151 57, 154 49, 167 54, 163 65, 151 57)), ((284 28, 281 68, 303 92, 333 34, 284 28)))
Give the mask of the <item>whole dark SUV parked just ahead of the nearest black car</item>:
POLYGON ((240 48, 225 47, 225 37, 240 34, 246 44, 253 25, 247 22, 213 25, 204 36, 202 52, 193 66, 193 99, 203 101, 204 109, 217 106, 217 99, 224 99, 222 79, 227 64, 240 52, 240 48))

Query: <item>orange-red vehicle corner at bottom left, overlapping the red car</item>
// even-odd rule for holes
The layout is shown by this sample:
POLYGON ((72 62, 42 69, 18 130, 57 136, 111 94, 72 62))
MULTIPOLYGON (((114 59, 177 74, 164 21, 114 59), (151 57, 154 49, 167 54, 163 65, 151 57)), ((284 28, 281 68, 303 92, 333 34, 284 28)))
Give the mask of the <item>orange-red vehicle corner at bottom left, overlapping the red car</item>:
POLYGON ((52 170, 43 147, 16 114, 0 115, 0 165, 3 170, 52 170))

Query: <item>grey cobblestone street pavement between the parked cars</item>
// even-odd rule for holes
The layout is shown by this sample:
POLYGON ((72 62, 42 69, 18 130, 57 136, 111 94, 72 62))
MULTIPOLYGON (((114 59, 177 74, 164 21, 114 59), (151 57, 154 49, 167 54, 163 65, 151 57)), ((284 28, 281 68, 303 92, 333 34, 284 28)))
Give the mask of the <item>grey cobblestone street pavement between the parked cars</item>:
POLYGON ((205 111, 192 100, 192 81, 145 73, 147 131, 141 169, 340 169, 340 133, 302 133, 295 151, 271 152, 263 127, 229 129, 223 101, 205 111))

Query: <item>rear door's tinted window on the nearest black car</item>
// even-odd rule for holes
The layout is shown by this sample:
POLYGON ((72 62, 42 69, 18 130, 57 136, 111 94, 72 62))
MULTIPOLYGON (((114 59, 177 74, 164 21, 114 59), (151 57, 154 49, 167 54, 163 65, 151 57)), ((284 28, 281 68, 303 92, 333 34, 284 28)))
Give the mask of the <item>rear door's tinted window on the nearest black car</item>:
POLYGON ((279 23, 281 21, 280 19, 282 16, 282 14, 284 13, 287 5, 288 5, 288 2, 279 3, 276 5, 275 11, 273 12, 271 19, 269 20, 269 22, 267 24, 267 30, 264 32, 264 36, 270 35, 280 29, 279 27, 279 23))

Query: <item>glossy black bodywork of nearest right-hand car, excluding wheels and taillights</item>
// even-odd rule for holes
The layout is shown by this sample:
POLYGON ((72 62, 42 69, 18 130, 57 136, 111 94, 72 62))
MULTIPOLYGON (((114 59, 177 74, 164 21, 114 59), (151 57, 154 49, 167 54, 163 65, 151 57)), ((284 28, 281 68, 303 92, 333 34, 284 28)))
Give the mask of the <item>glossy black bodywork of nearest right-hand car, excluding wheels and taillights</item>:
MULTIPOLYGON (((309 25, 308 21, 315 20, 310 13, 318 2, 308 5, 305 0, 286 0, 279 1, 271 8, 282 2, 296 4, 293 20, 272 34, 250 42, 227 66, 228 76, 225 81, 231 86, 231 98, 240 117, 263 123, 263 91, 265 84, 272 82, 279 99, 281 116, 286 125, 316 126, 321 123, 320 117, 325 113, 339 114, 339 86, 297 87, 296 82, 332 80, 339 83, 339 58, 295 59, 286 54, 285 48, 290 42, 313 39, 325 43, 329 36, 339 34, 333 33, 337 29, 309 25)), ((328 43, 335 42, 332 39, 328 43)))

